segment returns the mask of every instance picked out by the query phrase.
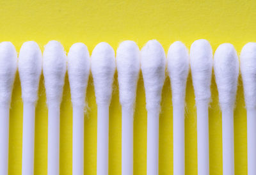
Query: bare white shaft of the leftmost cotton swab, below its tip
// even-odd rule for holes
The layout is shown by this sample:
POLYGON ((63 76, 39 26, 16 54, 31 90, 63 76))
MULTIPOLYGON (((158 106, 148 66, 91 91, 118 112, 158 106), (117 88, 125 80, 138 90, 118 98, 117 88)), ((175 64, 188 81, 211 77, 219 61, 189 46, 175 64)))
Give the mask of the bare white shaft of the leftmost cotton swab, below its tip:
POLYGON ((9 105, 0 105, 0 174, 8 174, 9 105))

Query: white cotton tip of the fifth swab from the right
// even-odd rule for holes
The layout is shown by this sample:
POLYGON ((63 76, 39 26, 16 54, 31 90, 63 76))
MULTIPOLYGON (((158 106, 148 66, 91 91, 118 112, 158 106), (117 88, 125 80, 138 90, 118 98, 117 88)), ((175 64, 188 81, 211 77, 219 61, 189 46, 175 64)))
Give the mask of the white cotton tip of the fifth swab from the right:
POLYGON ((166 58, 161 43, 150 40, 141 49, 141 71, 146 93, 147 110, 160 110, 165 79, 166 58))

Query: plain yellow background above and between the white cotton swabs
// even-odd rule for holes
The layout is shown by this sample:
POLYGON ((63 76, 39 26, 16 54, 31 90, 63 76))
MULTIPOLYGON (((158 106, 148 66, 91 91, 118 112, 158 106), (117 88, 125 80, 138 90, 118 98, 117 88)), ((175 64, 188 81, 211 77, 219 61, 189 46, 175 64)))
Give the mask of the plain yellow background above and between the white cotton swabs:
MULTIPOLYGON (((65 50, 83 42, 90 53, 99 42, 108 42, 115 50, 123 40, 134 40, 140 48, 157 39, 167 51, 180 40, 189 48, 193 41, 205 38, 212 49, 224 42, 234 44, 239 53, 243 45, 255 40, 256 1, 0 1, 0 41, 12 42, 17 52, 23 42, 35 40, 41 49, 49 40, 60 41, 65 50)), ((44 80, 40 82, 36 107, 35 174, 47 174, 47 106, 44 80)), ((189 75, 186 94, 186 174, 196 174, 196 108, 189 75)), ((146 174, 147 111, 145 91, 140 77, 134 119, 134 174, 146 174)), ((97 105, 90 77, 85 115, 84 172, 96 174, 97 105)), ((163 88, 159 131, 159 174, 172 174, 172 102, 170 80, 163 88)), ((210 171, 222 174, 221 112, 218 92, 212 80, 209 112, 210 171)), ((115 79, 109 122, 109 174, 121 174, 121 107, 115 79)), ((234 116, 235 171, 246 174, 246 110, 241 77, 234 116)), ((60 174, 72 174, 72 105, 68 79, 61 104, 60 174)), ((19 75, 15 80, 10 110, 9 173, 21 174, 22 99, 19 75)))

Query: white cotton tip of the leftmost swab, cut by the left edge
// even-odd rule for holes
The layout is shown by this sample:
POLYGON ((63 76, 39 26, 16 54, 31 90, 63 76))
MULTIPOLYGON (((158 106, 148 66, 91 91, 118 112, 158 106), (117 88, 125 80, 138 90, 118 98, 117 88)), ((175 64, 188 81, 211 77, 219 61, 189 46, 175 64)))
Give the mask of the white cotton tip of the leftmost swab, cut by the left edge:
POLYGON ((17 52, 11 42, 0 43, 0 103, 10 105, 17 71, 17 52))

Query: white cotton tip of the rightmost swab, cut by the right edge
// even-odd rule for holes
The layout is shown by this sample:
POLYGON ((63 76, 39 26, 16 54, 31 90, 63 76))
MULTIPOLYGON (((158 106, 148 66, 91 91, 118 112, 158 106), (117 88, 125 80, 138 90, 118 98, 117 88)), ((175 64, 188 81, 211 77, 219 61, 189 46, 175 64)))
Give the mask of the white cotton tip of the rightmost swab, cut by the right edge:
POLYGON ((244 99, 247 109, 256 108, 256 43, 244 45, 240 56, 244 99))

